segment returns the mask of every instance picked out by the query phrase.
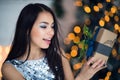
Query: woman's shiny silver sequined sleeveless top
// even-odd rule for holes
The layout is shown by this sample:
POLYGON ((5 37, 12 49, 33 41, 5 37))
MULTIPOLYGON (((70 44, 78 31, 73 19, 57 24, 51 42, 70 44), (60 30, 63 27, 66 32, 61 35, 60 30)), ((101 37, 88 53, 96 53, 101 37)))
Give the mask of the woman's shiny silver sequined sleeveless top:
POLYGON ((7 61, 23 75, 25 80, 54 80, 55 75, 48 66, 47 59, 27 60, 21 64, 21 60, 7 61))

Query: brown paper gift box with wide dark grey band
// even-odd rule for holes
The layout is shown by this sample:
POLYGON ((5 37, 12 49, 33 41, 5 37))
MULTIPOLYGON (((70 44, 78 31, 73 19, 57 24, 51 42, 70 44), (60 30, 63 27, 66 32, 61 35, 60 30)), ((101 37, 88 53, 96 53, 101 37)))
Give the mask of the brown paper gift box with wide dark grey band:
POLYGON ((100 28, 94 44, 94 57, 96 60, 102 59, 107 62, 116 38, 116 33, 100 28))

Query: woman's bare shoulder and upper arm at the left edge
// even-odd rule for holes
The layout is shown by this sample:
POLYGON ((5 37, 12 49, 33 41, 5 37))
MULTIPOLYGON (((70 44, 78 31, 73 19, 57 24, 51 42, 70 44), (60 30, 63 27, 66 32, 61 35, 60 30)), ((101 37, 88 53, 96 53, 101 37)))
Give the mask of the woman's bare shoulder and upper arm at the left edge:
POLYGON ((5 80, 25 80, 11 63, 3 63, 2 76, 5 80))

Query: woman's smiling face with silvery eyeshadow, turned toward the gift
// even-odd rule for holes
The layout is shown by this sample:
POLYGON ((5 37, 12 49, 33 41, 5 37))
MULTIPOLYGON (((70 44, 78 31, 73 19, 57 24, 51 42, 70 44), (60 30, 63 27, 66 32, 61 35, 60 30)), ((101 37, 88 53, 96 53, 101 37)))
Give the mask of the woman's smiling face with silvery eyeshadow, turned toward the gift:
POLYGON ((54 20, 49 12, 41 12, 31 30, 31 47, 46 49, 54 36, 54 20))

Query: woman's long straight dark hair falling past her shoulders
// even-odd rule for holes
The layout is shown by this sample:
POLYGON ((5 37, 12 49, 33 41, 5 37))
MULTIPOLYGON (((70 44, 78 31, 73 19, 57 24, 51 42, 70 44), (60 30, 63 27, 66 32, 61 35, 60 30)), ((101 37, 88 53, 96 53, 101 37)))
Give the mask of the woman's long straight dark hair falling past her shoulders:
POLYGON ((57 19, 53 11, 44 4, 40 4, 40 3, 28 4, 23 8, 16 24, 14 40, 12 42, 11 50, 6 60, 12 60, 21 57, 24 55, 24 53, 27 50, 28 50, 28 56, 26 60, 28 59, 31 49, 30 48, 31 29, 35 20, 38 17, 38 14, 43 11, 47 11, 51 13, 51 15, 53 16, 54 32, 55 32, 55 35, 52 39, 49 48, 44 49, 43 51, 45 51, 46 53, 46 58, 48 60, 49 67, 55 74, 55 79, 64 80, 64 71, 63 71, 62 60, 60 55, 61 51, 57 36, 57 32, 58 32, 57 19))

